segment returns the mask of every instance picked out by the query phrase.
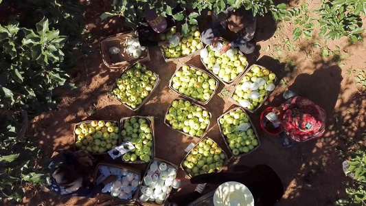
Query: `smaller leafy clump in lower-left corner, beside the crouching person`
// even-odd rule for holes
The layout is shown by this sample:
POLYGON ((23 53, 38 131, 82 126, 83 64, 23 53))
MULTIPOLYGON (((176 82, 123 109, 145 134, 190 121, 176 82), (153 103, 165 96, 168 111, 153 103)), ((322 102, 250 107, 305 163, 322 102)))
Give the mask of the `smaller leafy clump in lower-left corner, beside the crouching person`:
POLYGON ((41 185, 49 181, 47 170, 38 162, 42 155, 37 139, 16 141, 16 117, 0 117, 0 201, 21 202, 25 190, 23 185, 30 182, 41 185))

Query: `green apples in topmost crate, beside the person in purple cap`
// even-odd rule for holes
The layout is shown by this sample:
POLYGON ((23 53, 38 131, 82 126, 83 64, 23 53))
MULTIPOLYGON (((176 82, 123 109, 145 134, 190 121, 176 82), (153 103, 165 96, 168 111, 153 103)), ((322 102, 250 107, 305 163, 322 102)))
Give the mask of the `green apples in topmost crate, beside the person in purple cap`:
MULTIPOLYGON (((173 47, 172 45, 163 47, 165 58, 187 56, 188 54, 196 52, 198 49, 202 49, 201 33, 198 31, 197 26, 188 25, 188 31, 187 34, 183 34, 176 47, 173 47)), ((176 34, 176 30, 172 27, 167 33, 159 35, 159 38, 161 41, 168 41, 174 34, 176 34)))

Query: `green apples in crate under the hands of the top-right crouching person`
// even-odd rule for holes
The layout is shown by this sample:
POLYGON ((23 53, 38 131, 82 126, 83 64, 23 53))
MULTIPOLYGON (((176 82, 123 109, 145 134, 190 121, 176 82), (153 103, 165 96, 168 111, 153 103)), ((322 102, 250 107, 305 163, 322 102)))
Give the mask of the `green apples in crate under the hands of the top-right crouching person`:
MULTIPOLYGON (((223 45, 229 42, 222 43, 223 45)), ((201 52, 201 59, 203 64, 209 71, 214 73, 220 80, 224 82, 233 82, 236 80, 241 73, 244 72, 245 67, 247 67, 247 58, 238 54, 238 49, 231 48, 228 52, 233 53, 233 56, 229 57, 228 52, 220 54, 214 46, 209 45, 206 47, 207 53, 202 56, 204 52, 201 52), (218 65, 215 69, 214 65, 218 65)))

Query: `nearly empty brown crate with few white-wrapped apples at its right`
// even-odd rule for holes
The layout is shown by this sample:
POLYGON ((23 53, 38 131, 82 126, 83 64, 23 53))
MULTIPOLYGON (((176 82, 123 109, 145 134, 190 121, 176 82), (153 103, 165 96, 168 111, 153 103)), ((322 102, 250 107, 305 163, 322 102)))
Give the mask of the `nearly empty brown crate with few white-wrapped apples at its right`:
POLYGON ((126 53, 126 39, 130 36, 137 38, 137 34, 133 32, 124 32, 115 34, 112 36, 107 36, 100 40, 100 54, 102 55, 102 59, 104 65, 106 65, 110 69, 121 69, 122 67, 128 67, 137 61, 149 61, 150 53, 148 51, 148 47, 146 47, 145 51, 142 51, 141 56, 139 58, 134 58, 133 56, 128 56, 126 53), (118 54, 111 54, 109 52, 109 48, 117 47, 119 48, 118 54))

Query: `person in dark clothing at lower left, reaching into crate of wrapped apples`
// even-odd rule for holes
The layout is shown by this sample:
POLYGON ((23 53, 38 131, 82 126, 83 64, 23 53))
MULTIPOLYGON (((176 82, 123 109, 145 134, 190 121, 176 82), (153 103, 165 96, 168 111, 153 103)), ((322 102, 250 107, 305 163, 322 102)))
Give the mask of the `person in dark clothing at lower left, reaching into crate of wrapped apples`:
POLYGON ((94 197, 102 191, 104 185, 117 179, 117 176, 108 176, 99 185, 93 185, 91 181, 83 177, 78 170, 87 170, 93 162, 89 157, 80 157, 73 152, 62 151, 54 155, 48 165, 51 170, 50 184, 46 185, 61 195, 94 197))

